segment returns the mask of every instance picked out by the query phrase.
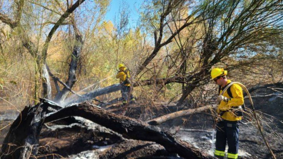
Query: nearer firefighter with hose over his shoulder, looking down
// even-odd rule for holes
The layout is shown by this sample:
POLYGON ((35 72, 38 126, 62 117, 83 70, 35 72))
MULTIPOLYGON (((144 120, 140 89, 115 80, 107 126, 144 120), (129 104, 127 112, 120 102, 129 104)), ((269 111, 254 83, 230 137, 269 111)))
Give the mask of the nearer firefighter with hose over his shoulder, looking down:
POLYGON ((220 121, 216 124, 216 142, 214 155, 224 158, 226 142, 228 144, 228 158, 237 159, 239 150, 239 122, 242 119, 241 106, 244 104, 243 90, 237 84, 231 85, 223 95, 222 90, 231 83, 227 79, 227 71, 223 68, 213 68, 211 79, 219 86, 217 113, 220 121))

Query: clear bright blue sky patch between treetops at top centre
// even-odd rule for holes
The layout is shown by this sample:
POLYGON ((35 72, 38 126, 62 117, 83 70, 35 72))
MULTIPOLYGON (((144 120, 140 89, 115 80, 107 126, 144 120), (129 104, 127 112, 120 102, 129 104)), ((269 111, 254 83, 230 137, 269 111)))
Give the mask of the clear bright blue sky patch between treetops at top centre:
POLYGON ((142 3, 142 0, 112 0, 109 7, 108 12, 106 13, 106 16, 104 18, 105 21, 111 20, 114 22, 115 15, 117 16, 119 12, 119 6, 124 3, 127 3, 129 5, 129 25, 131 28, 136 27, 136 23, 139 18, 138 9, 142 3))

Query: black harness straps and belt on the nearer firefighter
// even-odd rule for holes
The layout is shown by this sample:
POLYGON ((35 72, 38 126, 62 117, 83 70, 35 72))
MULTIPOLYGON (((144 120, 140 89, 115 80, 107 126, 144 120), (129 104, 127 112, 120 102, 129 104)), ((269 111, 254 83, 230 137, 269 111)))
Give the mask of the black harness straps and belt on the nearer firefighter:
MULTIPOLYGON (((233 82, 231 82, 231 83, 233 83, 233 82)), ((233 84, 232 84, 233 85, 233 84)), ((231 86, 232 86, 231 85, 231 86)), ((226 85, 227 86, 227 85, 226 85)), ((225 87, 226 87, 225 86, 225 87)), ((229 96, 229 100, 231 100, 231 98, 233 98, 233 95, 232 95, 232 92, 231 92, 231 86, 227 89, 227 93, 228 93, 228 96, 229 96)), ((225 87, 222 87, 221 88, 221 85, 219 86, 219 88, 218 88, 218 94, 220 94, 220 90, 224 90, 225 89, 225 87)), ((237 116, 237 117, 242 117, 243 116, 243 111, 246 111, 246 109, 245 109, 245 102, 244 102, 244 104, 243 105, 241 105, 241 106, 233 106, 233 107, 231 107, 232 109, 228 109, 228 110, 224 110, 224 111, 220 111, 220 116, 222 116, 225 112, 228 112, 228 111, 234 111, 235 112, 235 115, 237 116)))

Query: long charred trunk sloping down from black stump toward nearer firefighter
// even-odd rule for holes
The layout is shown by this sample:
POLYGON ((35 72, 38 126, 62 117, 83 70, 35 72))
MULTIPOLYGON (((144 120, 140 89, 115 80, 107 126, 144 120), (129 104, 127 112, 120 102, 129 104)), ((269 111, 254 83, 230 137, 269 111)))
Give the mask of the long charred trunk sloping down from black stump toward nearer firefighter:
POLYGON ((177 153, 184 158, 214 158, 156 126, 151 126, 129 117, 116 115, 86 103, 63 108, 47 116, 44 122, 51 122, 58 118, 69 116, 80 116, 91 120, 122 134, 123 137, 128 139, 154 141, 164 146, 168 152, 177 153))

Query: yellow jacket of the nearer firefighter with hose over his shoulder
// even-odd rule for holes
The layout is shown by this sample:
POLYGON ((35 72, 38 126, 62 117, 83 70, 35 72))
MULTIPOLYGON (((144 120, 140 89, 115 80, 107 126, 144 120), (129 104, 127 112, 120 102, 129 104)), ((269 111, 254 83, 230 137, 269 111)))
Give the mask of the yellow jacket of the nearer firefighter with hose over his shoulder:
MULTIPOLYGON (((231 83, 231 80, 227 81, 226 86, 229 83, 231 83)), ((233 84, 233 85, 231 85, 230 90, 231 90, 233 98, 228 95, 227 91, 225 91, 223 96, 229 98, 229 100, 228 100, 228 102, 225 102, 223 100, 220 102, 220 104, 217 107, 218 113, 220 111, 229 110, 229 109, 231 109, 231 107, 241 106, 241 105, 244 104, 242 87, 237 85, 237 84, 233 84)), ((222 93, 222 87, 220 89, 219 95, 221 93, 222 93)), ((238 120, 242 119, 242 117, 237 117, 233 111, 224 112, 224 114, 221 116, 221 118, 224 119, 224 120, 228 120, 228 121, 238 121, 238 120)))

